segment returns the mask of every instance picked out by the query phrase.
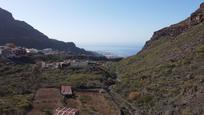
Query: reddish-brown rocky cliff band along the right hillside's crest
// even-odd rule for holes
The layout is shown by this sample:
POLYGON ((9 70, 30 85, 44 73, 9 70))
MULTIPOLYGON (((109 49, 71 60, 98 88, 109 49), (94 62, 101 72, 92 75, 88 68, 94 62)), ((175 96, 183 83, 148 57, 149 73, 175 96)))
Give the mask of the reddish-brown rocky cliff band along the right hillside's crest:
POLYGON ((147 48, 148 46, 151 45, 151 42, 154 40, 158 40, 162 37, 176 37, 179 34, 187 31, 190 27, 195 26, 197 24, 200 24, 204 21, 204 3, 202 3, 200 5, 200 8, 198 10, 196 10, 194 13, 191 14, 191 16, 189 18, 187 18, 186 20, 175 24, 175 25, 171 25, 169 27, 163 28, 159 31, 154 32, 152 38, 150 39, 150 41, 147 41, 144 48, 147 48))

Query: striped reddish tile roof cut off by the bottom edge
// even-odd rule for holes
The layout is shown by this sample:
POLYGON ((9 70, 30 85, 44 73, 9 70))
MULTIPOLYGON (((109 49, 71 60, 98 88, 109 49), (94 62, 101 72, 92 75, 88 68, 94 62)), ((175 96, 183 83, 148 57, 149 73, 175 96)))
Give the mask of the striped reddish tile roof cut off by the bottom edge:
POLYGON ((74 108, 58 107, 54 115, 79 115, 79 110, 74 108))

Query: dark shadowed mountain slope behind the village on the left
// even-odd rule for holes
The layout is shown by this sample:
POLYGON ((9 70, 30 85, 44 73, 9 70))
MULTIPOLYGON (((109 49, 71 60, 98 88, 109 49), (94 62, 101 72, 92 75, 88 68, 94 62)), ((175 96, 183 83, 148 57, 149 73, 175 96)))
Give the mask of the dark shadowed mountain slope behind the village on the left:
POLYGON ((15 43, 28 48, 52 48, 77 54, 90 54, 90 52, 77 48, 72 42, 65 43, 49 39, 26 22, 15 20, 11 13, 0 8, 0 45, 5 43, 15 43))

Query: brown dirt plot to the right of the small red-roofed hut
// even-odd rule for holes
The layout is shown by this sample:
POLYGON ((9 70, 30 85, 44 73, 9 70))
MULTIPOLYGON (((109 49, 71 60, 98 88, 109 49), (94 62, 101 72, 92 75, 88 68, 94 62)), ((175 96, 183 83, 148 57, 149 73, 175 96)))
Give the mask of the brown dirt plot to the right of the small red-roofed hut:
POLYGON ((119 115, 115 105, 103 94, 96 92, 75 92, 76 97, 67 99, 67 107, 78 108, 80 115, 119 115))

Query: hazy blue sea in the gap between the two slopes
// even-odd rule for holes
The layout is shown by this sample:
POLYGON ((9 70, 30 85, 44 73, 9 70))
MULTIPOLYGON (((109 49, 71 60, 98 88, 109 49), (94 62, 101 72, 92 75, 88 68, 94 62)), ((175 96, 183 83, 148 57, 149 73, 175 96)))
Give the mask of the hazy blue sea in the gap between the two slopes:
POLYGON ((88 51, 94 51, 103 55, 112 55, 118 57, 128 57, 137 54, 142 45, 79 45, 88 51))

